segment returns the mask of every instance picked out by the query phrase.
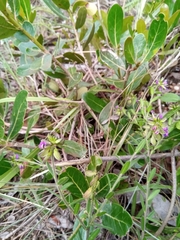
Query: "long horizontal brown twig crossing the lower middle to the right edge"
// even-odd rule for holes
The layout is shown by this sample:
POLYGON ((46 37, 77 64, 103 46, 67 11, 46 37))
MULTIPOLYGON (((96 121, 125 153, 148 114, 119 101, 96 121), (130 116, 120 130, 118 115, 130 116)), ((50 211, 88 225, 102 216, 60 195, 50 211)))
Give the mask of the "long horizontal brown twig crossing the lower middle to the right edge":
MULTIPOLYGON (((141 159, 141 158, 151 158, 151 159, 156 159, 156 158, 164 158, 164 157, 172 157, 172 153, 155 153, 152 154, 151 156, 147 156, 145 154, 139 154, 139 155, 126 155, 126 156, 106 156, 106 157, 101 157, 102 161, 128 161, 128 160, 132 160, 132 159, 141 159)), ((174 152, 174 157, 180 157, 180 152, 179 151, 175 151, 174 152)), ((56 166, 72 166, 72 165, 80 165, 83 163, 89 163, 90 162, 90 158, 83 158, 83 159, 74 159, 74 160, 70 160, 70 161, 66 161, 66 162, 56 162, 55 165, 56 166)))

